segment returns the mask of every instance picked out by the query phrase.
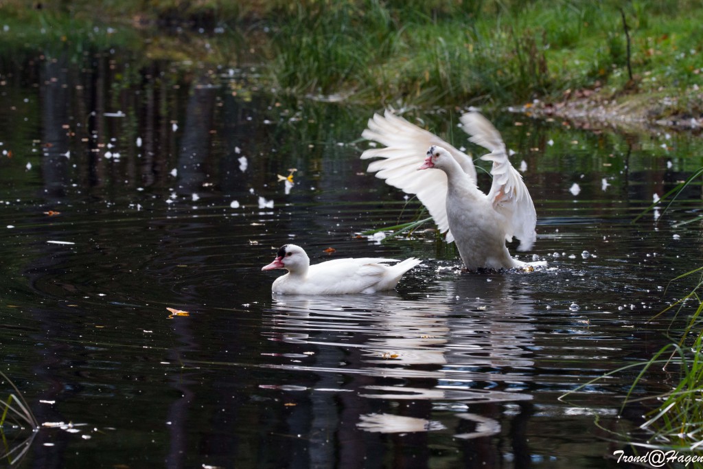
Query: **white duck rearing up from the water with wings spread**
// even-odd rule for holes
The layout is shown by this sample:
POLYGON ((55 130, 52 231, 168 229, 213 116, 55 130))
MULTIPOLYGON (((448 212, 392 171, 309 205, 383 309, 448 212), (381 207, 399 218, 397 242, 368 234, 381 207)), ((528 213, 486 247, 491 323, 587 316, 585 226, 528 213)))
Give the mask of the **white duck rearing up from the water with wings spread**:
POLYGON ((383 158, 371 162, 368 170, 377 172, 387 184, 418 195, 439 230, 446 232, 447 242, 456 242, 466 269, 534 265, 513 259, 505 246, 515 236, 520 240, 517 249, 529 250, 536 240, 537 217, 522 176, 510 165, 501 134, 479 113, 466 113, 460 121, 470 141, 491 150, 481 157, 493 162, 488 195, 477 188, 476 170, 468 155, 389 110, 384 116, 374 115, 361 134, 385 148, 370 148, 361 158, 383 158), (427 158, 418 167, 425 150, 427 158), (429 168, 441 171, 416 171, 429 168))

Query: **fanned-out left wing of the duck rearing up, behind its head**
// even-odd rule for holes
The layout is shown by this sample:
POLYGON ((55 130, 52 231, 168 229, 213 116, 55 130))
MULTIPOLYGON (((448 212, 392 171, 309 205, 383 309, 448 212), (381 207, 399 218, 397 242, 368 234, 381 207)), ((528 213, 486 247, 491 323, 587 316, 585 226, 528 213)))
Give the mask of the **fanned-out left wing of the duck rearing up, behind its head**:
POLYGON ((361 159, 381 158, 370 162, 369 172, 375 172, 386 184, 415 194, 427 207, 441 233, 447 232, 451 242, 449 222, 446 218, 446 174, 443 171, 418 171, 425 161, 427 148, 437 145, 445 148, 456 158, 464 171, 476 181, 476 169, 471 158, 454 148, 446 141, 402 117, 386 110, 384 115, 373 115, 368 120, 368 128, 361 134, 385 148, 369 148, 361 154, 361 159))

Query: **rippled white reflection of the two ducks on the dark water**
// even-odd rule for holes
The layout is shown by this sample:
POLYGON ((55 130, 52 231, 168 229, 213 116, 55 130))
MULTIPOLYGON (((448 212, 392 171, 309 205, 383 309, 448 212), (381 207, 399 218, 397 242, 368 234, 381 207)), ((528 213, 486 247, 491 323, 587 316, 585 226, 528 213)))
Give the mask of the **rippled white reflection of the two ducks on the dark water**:
MULTIPOLYGON (((491 436, 503 432, 515 462, 529 460, 522 429, 531 411, 535 317, 522 281, 519 274, 461 275, 420 300, 274 297, 266 335, 309 355, 272 366, 316 375, 310 444, 315 435, 336 435, 340 467, 361 467, 355 464, 382 444, 370 435, 392 434, 413 454, 396 462, 417 467, 430 458, 428 432, 443 432, 453 444, 464 442, 464 460, 494 463, 501 452, 491 436)), ((319 448, 310 454, 325 458, 319 448)))

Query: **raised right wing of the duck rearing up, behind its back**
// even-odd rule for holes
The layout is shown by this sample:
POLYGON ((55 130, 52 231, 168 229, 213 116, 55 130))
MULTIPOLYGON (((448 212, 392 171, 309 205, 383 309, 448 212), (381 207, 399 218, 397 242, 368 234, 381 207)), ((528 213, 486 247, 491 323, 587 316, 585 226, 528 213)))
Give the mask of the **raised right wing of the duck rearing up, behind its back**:
POLYGON ((501 134, 479 113, 466 113, 460 120, 462 128, 471 135, 469 140, 491 151, 481 159, 493 162, 493 184, 488 197, 496 212, 508 221, 505 238, 511 240, 515 236, 520 240, 518 250, 529 250, 536 240, 537 214, 522 176, 508 160, 501 134))

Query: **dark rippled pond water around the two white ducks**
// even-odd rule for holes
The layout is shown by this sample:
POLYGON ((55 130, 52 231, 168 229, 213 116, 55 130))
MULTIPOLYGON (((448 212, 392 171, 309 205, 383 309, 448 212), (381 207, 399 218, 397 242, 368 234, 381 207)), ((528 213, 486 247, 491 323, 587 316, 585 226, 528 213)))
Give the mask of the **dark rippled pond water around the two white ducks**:
MULTIPOLYGON (((632 220, 703 165, 698 139, 490 115, 538 211, 521 258, 548 267, 462 274, 431 232, 358 236, 418 210, 359 160, 380 109, 287 103, 242 70, 128 68, 0 73, 2 371, 65 423, 5 429, 22 467, 621 467, 604 429, 648 410, 619 414, 637 371, 558 398, 667 343, 669 318, 647 320, 703 262, 700 224, 676 225, 701 185, 632 220), (260 269, 291 241, 314 262, 425 262, 392 293, 271 297, 260 269)), ((455 110, 406 116, 466 145, 455 110)))

